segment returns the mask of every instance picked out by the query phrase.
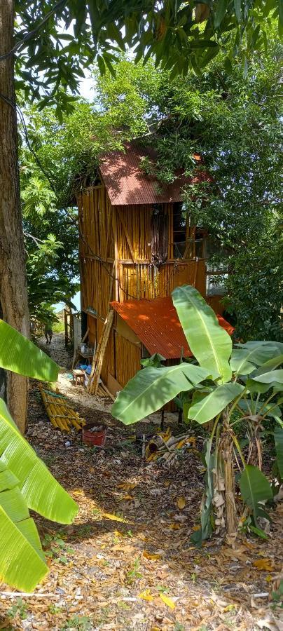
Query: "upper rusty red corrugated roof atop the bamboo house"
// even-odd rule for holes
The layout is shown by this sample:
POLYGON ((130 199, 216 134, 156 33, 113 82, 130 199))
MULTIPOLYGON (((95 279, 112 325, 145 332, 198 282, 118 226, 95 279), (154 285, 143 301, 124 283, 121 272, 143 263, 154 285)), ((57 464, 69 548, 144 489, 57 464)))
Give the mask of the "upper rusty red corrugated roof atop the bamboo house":
MULTIPOLYGON (((204 170, 195 170, 195 176, 188 178, 181 171, 171 184, 160 184, 156 177, 146 175, 141 168, 141 158, 156 161, 156 152, 131 142, 124 151, 112 151, 102 157, 100 172, 112 205, 156 204, 181 201, 181 191, 185 184, 211 180, 204 170)), ((200 156, 195 155, 195 162, 200 156)))

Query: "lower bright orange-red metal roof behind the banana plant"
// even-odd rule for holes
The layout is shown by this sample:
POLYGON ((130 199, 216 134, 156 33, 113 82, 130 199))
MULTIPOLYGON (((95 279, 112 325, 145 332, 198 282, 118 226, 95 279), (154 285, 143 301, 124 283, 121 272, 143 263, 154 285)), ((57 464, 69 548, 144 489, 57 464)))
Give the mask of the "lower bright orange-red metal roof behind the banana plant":
MULTIPOLYGON (((177 359, 183 348, 184 357, 192 357, 171 297, 111 302, 111 305, 151 355, 160 353, 166 359, 177 359)), ((217 318, 231 335, 233 327, 221 315, 217 318)))

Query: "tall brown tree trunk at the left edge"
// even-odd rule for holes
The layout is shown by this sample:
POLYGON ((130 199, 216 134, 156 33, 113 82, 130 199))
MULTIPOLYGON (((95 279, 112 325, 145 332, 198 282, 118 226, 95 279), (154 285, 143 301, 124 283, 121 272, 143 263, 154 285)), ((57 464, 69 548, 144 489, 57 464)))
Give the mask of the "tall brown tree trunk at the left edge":
MULTIPOLYGON (((0 0, 0 55, 13 47, 14 17, 14 1, 0 0)), ((6 98, 15 103, 13 65, 13 55, 0 61, 0 305, 4 320, 29 337, 17 118, 13 104, 5 101, 6 98)), ((27 379, 8 372, 5 398, 23 433, 27 415, 27 379)))

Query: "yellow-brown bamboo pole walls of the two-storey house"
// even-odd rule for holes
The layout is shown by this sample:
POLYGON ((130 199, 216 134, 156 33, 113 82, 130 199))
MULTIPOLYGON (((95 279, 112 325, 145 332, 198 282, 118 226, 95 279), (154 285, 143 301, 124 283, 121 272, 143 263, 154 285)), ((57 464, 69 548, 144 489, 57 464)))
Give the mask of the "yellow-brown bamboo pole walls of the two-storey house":
MULTIPOLYGON (((88 314, 89 341, 99 341, 109 302, 132 298, 167 297, 174 287, 189 284, 205 296, 205 260, 174 259, 173 205, 163 205, 168 215, 168 257, 165 264, 151 264, 151 205, 111 206, 104 184, 84 191, 78 198, 80 228, 82 308, 88 314)), ((190 229, 191 230, 191 229, 190 229)), ((188 235, 187 235, 188 236, 188 235)), ((215 297, 214 297, 215 303, 215 297)), ((213 304, 216 306, 216 303, 213 304)), ((141 347, 116 330, 114 320, 106 346, 102 381, 110 373, 125 386, 140 368, 141 347)))

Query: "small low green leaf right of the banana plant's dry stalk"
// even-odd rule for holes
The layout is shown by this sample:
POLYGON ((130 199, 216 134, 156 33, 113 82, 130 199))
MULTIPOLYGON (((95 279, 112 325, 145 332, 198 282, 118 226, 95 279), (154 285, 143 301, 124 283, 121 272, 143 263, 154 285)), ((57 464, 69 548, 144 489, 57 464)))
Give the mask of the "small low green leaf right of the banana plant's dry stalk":
POLYGON ((257 467, 246 465, 239 480, 242 499, 249 506, 258 527, 258 517, 265 517, 265 511, 259 504, 272 499, 272 489, 267 477, 257 467))

